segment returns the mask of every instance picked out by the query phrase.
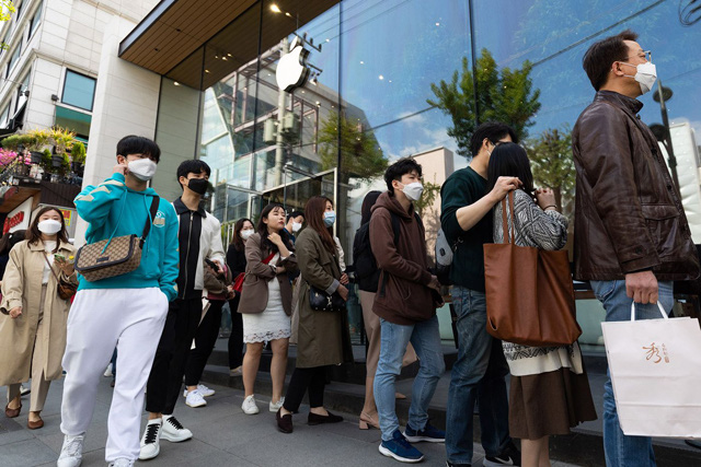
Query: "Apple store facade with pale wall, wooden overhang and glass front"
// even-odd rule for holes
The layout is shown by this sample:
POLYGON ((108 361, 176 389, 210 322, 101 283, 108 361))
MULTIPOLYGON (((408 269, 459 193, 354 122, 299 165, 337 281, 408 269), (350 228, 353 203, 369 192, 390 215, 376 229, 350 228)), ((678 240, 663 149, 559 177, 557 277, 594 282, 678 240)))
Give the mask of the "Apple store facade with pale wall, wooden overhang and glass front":
MULTIPOLYGON (((384 189, 388 163, 420 155, 433 167, 425 180, 439 185, 467 164, 475 122, 497 119, 516 127, 541 178, 562 170, 555 188, 571 213, 570 131, 594 97, 582 57, 591 43, 632 28, 666 87, 641 97, 641 117, 666 142, 683 127, 683 170, 694 176, 679 178, 699 198, 701 58, 690 51, 701 45, 701 15, 693 0, 136 3, 138 24, 113 16, 99 27, 85 183, 110 174, 122 136, 140 133, 163 151, 153 186, 165 198, 180 195, 175 168, 193 157, 214 168, 211 209, 225 223, 255 219, 269 201, 296 209, 310 196, 329 196, 349 254, 363 198, 384 189), (281 85, 280 67, 306 69, 306 80, 281 85), (666 101, 668 125, 655 95, 666 101)), ((60 92, 70 55, 53 62, 59 78, 51 94, 60 92)), ((74 71, 94 77, 85 63, 74 71)), ((435 223, 437 210, 426 212, 425 223, 435 223)), ((595 345, 596 313, 587 314, 595 345)))

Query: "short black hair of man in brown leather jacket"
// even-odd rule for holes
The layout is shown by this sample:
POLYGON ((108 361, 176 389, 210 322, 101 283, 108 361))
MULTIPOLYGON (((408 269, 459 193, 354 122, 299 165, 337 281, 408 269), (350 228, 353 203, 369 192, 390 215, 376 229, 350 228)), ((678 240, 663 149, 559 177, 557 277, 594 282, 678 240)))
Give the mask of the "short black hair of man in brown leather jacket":
POLYGON ((625 30, 614 36, 607 37, 591 44, 582 58, 582 68, 587 72, 589 81, 596 91, 600 90, 609 80, 609 71, 614 61, 625 60, 628 45, 624 40, 635 40, 637 34, 625 30))

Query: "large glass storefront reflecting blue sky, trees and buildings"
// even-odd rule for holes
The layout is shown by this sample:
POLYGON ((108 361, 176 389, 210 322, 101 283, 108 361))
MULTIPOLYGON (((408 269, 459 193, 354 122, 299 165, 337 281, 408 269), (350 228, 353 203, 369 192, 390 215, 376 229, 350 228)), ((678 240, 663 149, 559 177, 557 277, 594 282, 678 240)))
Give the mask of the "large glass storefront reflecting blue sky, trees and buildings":
MULTIPOLYGON (((678 157, 691 161, 683 172, 699 172, 701 66, 689 50, 701 45, 701 24, 680 15, 678 3, 455 0, 427 9, 421 0, 344 0, 313 15, 317 2, 298 2, 303 7, 289 15, 273 12, 272 3, 257 2, 170 73, 175 79, 205 63, 198 153, 222 185, 215 194, 222 220, 254 218, 269 201, 291 210, 311 196, 329 196, 350 262, 363 199, 386 189, 388 164, 416 156, 425 185, 439 188, 468 163, 471 128, 491 119, 514 126, 532 157, 539 156, 539 140, 555 131, 566 142, 594 97, 582 69, 585 50, 627 27, 641 34, 671 91, 667 110, 675 145, 683 152, 678 157), (291 93, 280 91, 280 60, 302 38, 314 40, 304 46, 313 65, 309 79, 291 93)), ((662 121, 653 94, 641 97, 648 125, 662 121)), ((699 186, 698 177, 688 183, 699 186)), ((573 184, 565 180, 559 189, 563 210, 572 214, 573 184)), ((422 215, 429 252, 439 202, 437 195, 422 215)), ((586 306, 581 313, 591 319, 583 320, 585 337, 598 346, 600 315, 586 306)))

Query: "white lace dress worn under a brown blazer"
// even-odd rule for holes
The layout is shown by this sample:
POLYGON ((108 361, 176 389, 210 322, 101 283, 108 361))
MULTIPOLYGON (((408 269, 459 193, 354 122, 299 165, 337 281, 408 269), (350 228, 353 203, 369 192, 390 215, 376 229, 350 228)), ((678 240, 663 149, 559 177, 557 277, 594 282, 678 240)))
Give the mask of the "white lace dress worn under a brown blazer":
MULTIPOLYGON (((271 264, 277 262, 278 258, 279 253, 273 257, 271 264)), ((283 307, 280 284, 277 278, 267 283, 267 306, 263 313, 244 313, 241 317, 243 318, 243 341, 246 343, 268 342, 290 337, 290 318, 285 314, 283 307)))

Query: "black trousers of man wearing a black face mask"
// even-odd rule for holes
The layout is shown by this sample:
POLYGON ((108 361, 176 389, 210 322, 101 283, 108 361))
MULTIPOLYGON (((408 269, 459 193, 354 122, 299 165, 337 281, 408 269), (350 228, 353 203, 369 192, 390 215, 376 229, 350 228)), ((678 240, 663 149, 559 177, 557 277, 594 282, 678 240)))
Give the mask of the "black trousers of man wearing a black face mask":
POLYGON ((202 297, 176 299, 171 302, 146 385, 147 411, 173 413, 183 388, 185 364, 200 317, 202 297))

